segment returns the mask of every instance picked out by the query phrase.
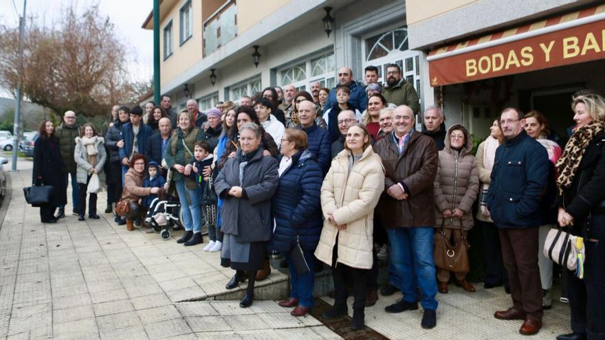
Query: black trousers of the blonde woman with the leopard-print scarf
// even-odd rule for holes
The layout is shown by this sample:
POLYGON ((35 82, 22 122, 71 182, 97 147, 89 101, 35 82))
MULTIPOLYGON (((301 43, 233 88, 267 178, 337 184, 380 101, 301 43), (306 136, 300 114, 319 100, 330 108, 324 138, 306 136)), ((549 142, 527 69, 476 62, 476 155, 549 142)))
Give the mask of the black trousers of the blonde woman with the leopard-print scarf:
POLYGON ((589 239, 584 239, 586 261, 584 279, 564 269, 567 280, 571 329, 585 333, 588 339, 605 339, 605 214, 595 214, 591 220, 589 239))

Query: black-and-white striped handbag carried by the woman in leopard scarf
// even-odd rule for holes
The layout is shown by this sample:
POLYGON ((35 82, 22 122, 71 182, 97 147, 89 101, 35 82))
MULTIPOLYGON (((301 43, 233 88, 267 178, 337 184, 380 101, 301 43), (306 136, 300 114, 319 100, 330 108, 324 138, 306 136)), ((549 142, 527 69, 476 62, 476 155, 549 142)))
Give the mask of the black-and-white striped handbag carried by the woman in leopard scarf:
POLYGON ((562 229, 550 229, 544 241, 544 256, 570 271, 577 270, 577 264, 583 267, 586 249, 580 236, 573 236, 562 229), (580 245, 580 247, 579 247, 580 245))

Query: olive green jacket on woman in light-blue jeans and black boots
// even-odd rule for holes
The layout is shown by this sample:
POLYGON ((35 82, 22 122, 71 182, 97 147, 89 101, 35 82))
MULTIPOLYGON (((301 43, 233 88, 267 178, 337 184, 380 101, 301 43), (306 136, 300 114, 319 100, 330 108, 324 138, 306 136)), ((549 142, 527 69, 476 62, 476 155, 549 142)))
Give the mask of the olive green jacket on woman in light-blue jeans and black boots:
POLYGON ((166 148, 166 153, 164 154, 166 165, 173 173, 173 182, 184 179, 187 189, 196 188, 195 181, 175 170, 173 166, 175 166, 175 164, 186 166, 191 157, 193 157, 195 142, 205 139, 206 133, 204 133, 201 128, 190 128, 186 133, 183 133, 180 128, 177 128, 173 132, 173 135, 170 137, 170 144, 166 148), (189 150, 187 150, 184 145, 186 145, 189 150))

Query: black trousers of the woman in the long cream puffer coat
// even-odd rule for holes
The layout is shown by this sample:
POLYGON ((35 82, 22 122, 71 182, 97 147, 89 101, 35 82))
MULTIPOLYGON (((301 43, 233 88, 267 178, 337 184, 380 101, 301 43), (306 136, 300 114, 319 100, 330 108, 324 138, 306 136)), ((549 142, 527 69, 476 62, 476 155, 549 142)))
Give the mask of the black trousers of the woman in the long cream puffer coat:
POLYGON ((347 286, 353 287, 353 309, 364 309, 366 306, 366 287, 368 280, 368 269, 358 269, 337 263, 338 238, 332 249, 332 277, 334 280, 334 306, 347 304, 347 286))

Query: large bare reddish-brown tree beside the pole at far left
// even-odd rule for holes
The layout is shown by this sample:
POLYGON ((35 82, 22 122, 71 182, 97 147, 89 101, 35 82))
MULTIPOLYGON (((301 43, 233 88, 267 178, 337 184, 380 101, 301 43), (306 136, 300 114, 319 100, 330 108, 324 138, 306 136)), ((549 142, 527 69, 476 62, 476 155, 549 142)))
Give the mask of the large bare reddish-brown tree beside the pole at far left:
POLYGON ((27 26, 23 72, 19 63, 19 30, 0 25, 0 86, 23 95, 57 114, 67 110, 89 117, 107 115, 116 103, 131 102, 142 93, 126 71, 127 51, 108 16, 93 5, 83 13, 67 8, 52 27, 27 26))

